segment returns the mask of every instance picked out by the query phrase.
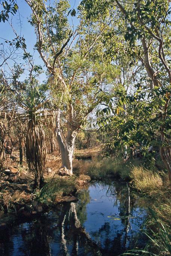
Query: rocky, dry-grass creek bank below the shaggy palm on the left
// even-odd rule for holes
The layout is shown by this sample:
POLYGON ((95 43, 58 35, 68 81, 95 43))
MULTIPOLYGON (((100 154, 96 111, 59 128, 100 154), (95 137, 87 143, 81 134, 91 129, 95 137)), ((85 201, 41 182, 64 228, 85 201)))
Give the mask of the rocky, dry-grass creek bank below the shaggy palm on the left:
POLYGON ((90 177, 85 175, 56 175, 53 179, 48 178, 41 190, 33 191, 33 178, 30 175, 23 175, 14 167, 3 169, 0 181, 0 229, 11 225, 16 218, 35 218, 58 204, 76 202, 76 192, 89 180, 90 177), (13 175, 15 179, 9 181, 13 175))

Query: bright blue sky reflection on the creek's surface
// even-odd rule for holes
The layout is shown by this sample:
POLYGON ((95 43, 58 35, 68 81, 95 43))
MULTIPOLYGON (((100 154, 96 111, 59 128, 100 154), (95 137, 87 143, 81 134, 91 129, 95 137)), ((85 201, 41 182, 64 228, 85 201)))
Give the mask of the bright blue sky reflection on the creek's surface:
MULTIPOLYGON (((106 196, 107 189, 107 185, 105 187, 100 184, 91 185, 89 187, 91 201, 87 204, 87 220, 83 224, 85 230, 91 235, 91 238, 94 241, 97 241, 98 239, 102 246, 104 245, 106 238, 112 241, 117 236, 117 233, 120 233, 123 236, 126 233, 126 224, 123 224, 121 219, 118 220, 108 217, 112 215, 114 218, 120 218, 120 202, 118 201, 116 204, 117 197, 115 195, 106 196), (110 230, 105 230, 104 228, 104 230, 99 232, 106 223, 109 224, 107 226, 110 227, 110 230)), ((136 207, 130 210, 132 210, 131 214, 133 218, 129 219, 128 237, 135 236, 144 221, 144 209, 136 207)), ((127 243, 127 246, 128 245, 129 243, 127 243)))

